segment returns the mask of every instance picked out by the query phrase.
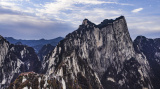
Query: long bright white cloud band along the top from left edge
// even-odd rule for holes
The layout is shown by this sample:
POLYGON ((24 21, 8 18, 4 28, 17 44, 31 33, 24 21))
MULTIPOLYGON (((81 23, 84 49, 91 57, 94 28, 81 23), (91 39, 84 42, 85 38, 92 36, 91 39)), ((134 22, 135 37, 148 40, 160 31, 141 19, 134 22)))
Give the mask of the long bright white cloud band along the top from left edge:
MULTIPOLYGON (((83 0, 83 1, 82 0, 54 0, 52 2, 46 2, 46 3, 41 3, 41 4, 35 4, 30 0, 21 0, 22 3, 19 3, 16 1, 17 0, 13 0, 12 2, 9 2, 9 1, 4 0, 3 2, 0 3, 0 6, 3 9, 10 10, 10 12, 22 13, 22 14, 27 14, 27 15, 35 15, 39 18, 43 18, 47 20, 49 19, 52 20, 54 18, 54 19, 61 20, 61 21, 69 20, 70 16, 66 14, 70 14, 70 13, 80 14, 81 16, 83 16, 84 14, 79 13, 79 11, 82 11, 82 10, 90 11, 89 8, 94 5, 101 5, 101 4, 131 5, 127 3, 118 3, 115 1, 107 2, 107 1, 102 1, 102 0, 83 0), (24 1, 27 1, 27 2, 23 4, 24 1), (78 7, 77 5, 83 5, 83 6, 78 7), (28 7, 28 6, 32 6, 32 7, 28 7), (64 15, 66 18, 64 18, 64 15)), ((94 7, 93 9, 96 9, 96 8, 97 7, 94 7)), ((112 14, 117 13, 117 11, 111 10, 111 9, 106 10, 106 11, 111 12, 112 14)), ((96 13, 96 11, 94 12, 96 13)), ((70 15, 73 16, 72 14, 70 15)), ((85 14, 85 16, 87 16, 87 14, 85 14)))

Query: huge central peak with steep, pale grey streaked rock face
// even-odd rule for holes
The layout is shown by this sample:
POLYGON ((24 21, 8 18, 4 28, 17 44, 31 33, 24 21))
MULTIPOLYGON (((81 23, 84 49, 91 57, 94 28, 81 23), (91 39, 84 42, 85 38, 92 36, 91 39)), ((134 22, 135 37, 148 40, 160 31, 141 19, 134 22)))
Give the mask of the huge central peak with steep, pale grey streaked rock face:
POLYGON ((152 89, 148 61, 135 52, 123 16, 99 25, 85 19, 46 57, 43 69, 63 76, 67 88, 152 89))

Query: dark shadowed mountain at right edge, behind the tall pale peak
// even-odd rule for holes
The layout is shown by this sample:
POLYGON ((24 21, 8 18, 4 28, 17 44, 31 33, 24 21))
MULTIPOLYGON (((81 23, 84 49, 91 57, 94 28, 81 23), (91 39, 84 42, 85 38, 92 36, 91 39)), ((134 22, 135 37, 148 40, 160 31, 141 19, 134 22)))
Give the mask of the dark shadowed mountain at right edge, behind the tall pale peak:
POLYGON ((160 39, 149 39, 144 36, 138 36, 134 40, 134 47, 137 52, 143 52, 152 68, 151 76, 155 89, 160 88, 160 39))

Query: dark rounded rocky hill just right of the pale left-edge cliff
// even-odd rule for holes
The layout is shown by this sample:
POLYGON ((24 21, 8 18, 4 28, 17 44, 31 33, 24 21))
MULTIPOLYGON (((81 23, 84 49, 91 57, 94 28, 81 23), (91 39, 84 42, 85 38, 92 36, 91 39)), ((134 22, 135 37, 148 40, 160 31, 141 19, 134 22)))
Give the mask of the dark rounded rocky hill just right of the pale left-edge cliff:
POLYGON ((23 72, 35 71, 39 73, 41 62, 32 47, 24 45, 10 45, 10 52, 17 56, 24 65, 23 72))

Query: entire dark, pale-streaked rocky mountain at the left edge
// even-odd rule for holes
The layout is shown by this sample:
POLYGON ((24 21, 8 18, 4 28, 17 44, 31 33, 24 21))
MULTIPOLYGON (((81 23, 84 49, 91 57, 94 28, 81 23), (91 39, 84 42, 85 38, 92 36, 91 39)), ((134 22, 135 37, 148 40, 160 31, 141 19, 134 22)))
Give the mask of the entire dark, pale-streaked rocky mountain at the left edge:
POLYGON ((39 72, 41 62, 34 49, 13 45, 0 36, 0 88, 8 86, 21 72, 39 72))

